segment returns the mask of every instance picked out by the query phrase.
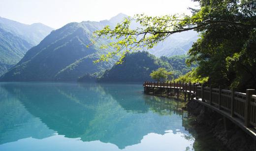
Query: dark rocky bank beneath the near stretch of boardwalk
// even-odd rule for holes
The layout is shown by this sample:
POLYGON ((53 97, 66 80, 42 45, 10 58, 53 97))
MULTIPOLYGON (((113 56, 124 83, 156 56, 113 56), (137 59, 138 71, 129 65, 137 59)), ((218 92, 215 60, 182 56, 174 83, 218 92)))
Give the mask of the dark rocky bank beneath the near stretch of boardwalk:
POLYGON ((212 110, 204 110, 203 105, 190 100, 184 110, 196 116, 195 129, 208 128, 228 151, 256 151, 255 140, 234 123, 225 130, 224 118, 212 110))

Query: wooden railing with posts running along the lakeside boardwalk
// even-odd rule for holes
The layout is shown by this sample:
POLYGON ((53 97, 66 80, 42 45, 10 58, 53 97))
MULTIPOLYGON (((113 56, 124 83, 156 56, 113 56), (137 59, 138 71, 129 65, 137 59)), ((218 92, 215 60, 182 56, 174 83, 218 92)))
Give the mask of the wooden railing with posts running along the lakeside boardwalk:
POLYGON ((224 110, 231 117, 239 117, 244 120, 244 126, 256 127, 256 95, 255 90, 248 89, 246 93, 223 90, 201 86, 199 83, 172 83, 172 82, 144 82, 143 87, 179 89, 191 93, 195 99, 218 110, 224 110))

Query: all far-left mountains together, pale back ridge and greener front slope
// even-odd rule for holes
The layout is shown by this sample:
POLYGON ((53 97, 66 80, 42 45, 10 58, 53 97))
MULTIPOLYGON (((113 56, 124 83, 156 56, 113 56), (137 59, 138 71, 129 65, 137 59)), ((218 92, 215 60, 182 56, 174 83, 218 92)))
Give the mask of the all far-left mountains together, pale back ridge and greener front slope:
POLYGON ((21 24, 0 17, 0 76, 53 29, 43 24, 21 24))

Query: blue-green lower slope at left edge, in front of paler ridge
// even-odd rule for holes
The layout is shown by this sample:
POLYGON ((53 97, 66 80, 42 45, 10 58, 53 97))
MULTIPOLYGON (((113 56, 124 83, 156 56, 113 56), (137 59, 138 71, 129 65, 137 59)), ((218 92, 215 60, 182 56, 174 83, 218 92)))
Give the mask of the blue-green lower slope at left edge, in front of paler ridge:
POLYGON ((0 29, 0 76, 18 63, 31 47, 27 41, 0 29))

